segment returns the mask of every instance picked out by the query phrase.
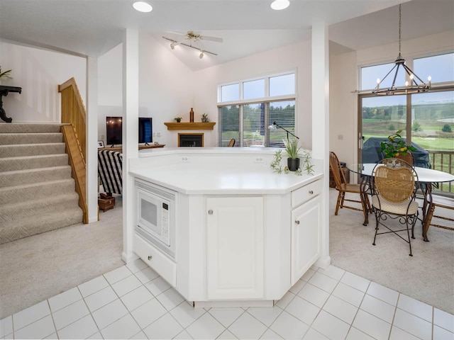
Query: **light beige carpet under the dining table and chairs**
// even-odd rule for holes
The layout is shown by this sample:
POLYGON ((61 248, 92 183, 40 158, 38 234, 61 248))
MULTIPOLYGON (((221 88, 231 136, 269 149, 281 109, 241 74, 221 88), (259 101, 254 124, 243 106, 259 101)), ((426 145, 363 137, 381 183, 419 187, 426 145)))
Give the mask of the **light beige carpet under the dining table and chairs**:
MULTIPOLYGON (((369 215, 367 227, 362 225, 361 211, 343 208, 335 216, 336 199, 337 191, 330 189, 333 266, 454 314, 453 231, 430 227, 430 242, 424 242, 421 222, 417 221, 415 239, 411 239, 413 256, 409 256, 409 245, 394 234, 378 235, 373 246, 374 215, 369 215)), ((402 235, 406 237, 406 232, 402 235)))

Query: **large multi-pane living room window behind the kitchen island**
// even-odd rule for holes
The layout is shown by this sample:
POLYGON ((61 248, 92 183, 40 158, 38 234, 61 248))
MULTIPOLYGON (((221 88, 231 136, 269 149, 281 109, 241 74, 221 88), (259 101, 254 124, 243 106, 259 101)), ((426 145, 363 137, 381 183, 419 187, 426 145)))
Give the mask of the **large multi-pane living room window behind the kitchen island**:
POLYGON ((284 147, 287 132, 269 127, 295 133, 295 88, 294 72, 219 86, 218 145, 234 138, 237 147, 284 147))

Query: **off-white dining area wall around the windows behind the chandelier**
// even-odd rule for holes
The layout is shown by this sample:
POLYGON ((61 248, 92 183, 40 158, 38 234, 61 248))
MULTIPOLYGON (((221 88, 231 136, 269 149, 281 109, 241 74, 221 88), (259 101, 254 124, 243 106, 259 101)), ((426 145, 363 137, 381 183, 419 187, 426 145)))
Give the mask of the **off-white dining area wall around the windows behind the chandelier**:
MULTIPOLYGON (((406 60, 453 51, 454 31, 404 40, 401 47, 406 60)), ((358 159, 358 94, 351 91, 359 87, 359 68, 394 62, 398 52, 396 42, 330 57, 330 150, 347 164, 354 164, 358 159), (339 135, 343 140, 338 139, 339 135)))

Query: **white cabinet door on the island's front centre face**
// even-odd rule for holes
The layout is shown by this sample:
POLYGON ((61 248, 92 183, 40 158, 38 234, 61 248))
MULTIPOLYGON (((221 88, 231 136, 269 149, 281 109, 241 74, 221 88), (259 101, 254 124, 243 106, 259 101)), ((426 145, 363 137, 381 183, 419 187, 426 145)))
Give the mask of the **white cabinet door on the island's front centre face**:
POLYGON ((209 300, 264 297, 263 198, 207 198, 206 208, 209 300))

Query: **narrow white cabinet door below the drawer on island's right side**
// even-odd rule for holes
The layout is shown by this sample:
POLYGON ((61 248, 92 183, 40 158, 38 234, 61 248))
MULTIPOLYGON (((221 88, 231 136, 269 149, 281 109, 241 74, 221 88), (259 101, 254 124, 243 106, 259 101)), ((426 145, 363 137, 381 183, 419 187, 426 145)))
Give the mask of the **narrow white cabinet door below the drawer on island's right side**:
POLYGON ((320 256, 320 196, 292 210, 292 285, 320 256))

